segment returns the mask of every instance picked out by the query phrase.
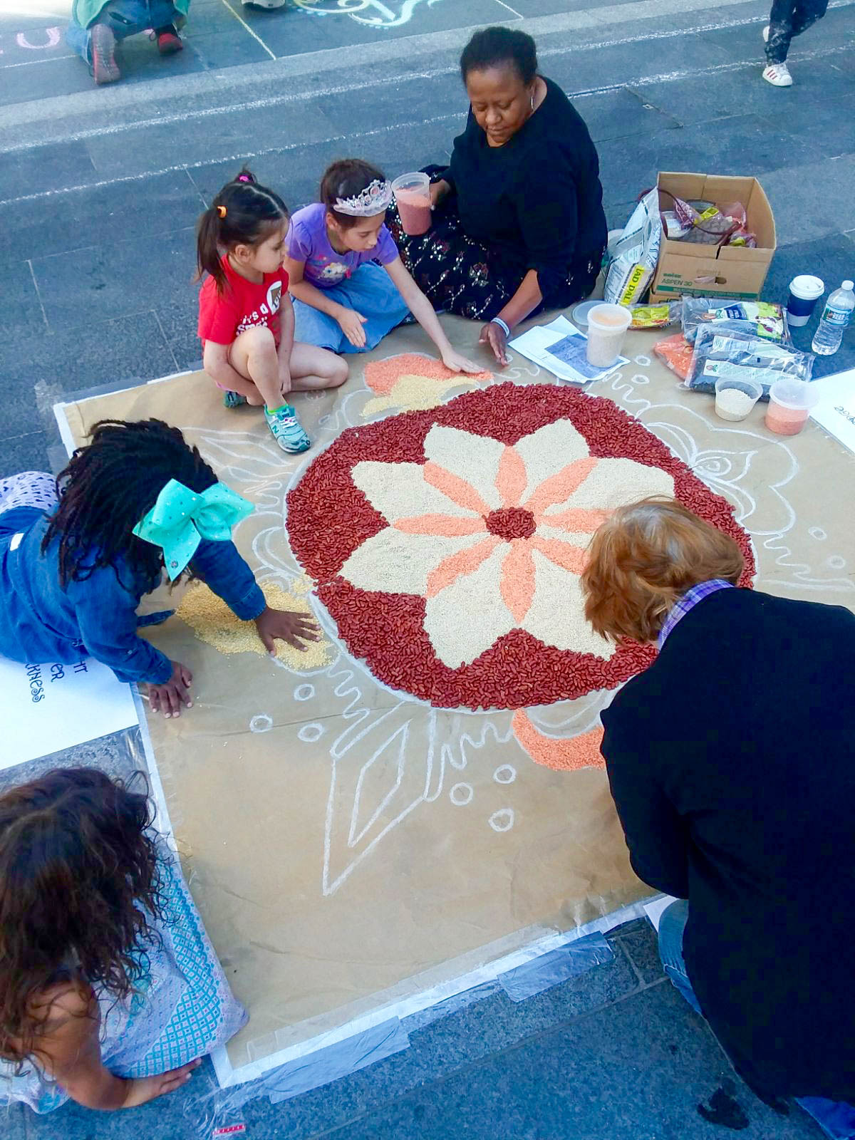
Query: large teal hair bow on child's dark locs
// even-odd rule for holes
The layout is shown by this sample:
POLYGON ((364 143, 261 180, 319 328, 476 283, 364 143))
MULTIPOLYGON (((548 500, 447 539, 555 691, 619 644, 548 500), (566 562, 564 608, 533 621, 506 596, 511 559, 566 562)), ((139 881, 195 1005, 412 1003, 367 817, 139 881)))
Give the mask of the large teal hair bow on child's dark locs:
POLYGON ((161 547, 166 573, 173 580, 187 569, 203 538, 227 542, 231 528, 254 510, 252 503, 225 483, 214 483, 197 495, 177 479, 170 479, 133 534, 161 547))

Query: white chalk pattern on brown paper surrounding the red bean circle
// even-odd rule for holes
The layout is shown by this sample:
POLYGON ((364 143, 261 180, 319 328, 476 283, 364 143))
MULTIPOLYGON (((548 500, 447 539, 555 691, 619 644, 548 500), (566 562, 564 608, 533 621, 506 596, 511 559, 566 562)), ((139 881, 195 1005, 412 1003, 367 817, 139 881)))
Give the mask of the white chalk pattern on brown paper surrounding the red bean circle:
MULTIPOLYGON (((369 9, 366 6, 358 10, 369 9)), ((795 596, 806 598, 822 592, 847 601, 845 595, 855 589, 855 584, 846 573, 841 554, 829 556, 828 546, 808 547, 821 555, 815 561, 809 554, 793 554, 798 534, 807 531, 817 543, 824 543, 832 527, 823 518, 819 500, 813 518, 797 521, 789 495, 801 477, 791 447, 739 424, 719 425, 710 417, 705 397, 698 397, 697 412, 692 404, 686 407, 667 396, 654 402, 643 370, 649 364, 646 357, 637 357, 632 368, 592 385, 591 397, 608 394, 637 416, 703 482, 734 505, 736 518, 754 542, 759 588, 781 593, 782 587, 788 587, 795 596)), ((530 361, 518 360, 511 361, 502 380, 519 384, 554 382, 530 361)), ((192 429, 194 441, 199 442, 220 478, 256 503, 255 514, 241 526, 252 527, 251 561, 260 577, 275 577, 286 587, 302 579, 303 571, 283 539, 283 529, 287 534, 285 497, 323 447, 345 427, 364 423, 360 413, 373 396, 365 386, 349 385, 336 408, 323 417, 316 447, 303 456, 283 457, 272 440, 268 443, 246 432, 192 429)), ((474 789, 484 782, 516 787, 537 779, 538 769, 513 734, 511 712, 435 709, 389 689, 364 661, 349 656, 339 642, 335 622, 318 598, 312 594, 309 601, 324 635, 339 651, 332 665, 311 674, 311 681, 307 681, 306 673, 295 674, 292 690, 295 701, 308 701, 323 683, 327 705, 324 711, 329 714, 324 724, 295 726, 298 739, 315 746, 316 751, 328 728, 328 741, 320 746, 320 755, 329 766, 329 790, 319 888, 329 896, 345 889, 360 864, 380 845, 391 842, 414 812, 427 811, 443 789, 451 804, 465 806, 470 803, 466 789, 472 790, 474 800, 474 789), (465 782, 461 781, 463 772, 465 782)), ((588 693, 576 701, 528 709, 528 715, 546 735, 572 736, 598 724, 600 712, 612 695, 588 693)), ((459 817, 469 817, 469 813, 459 817)), ((521 826, 510 805, 495 811, 488 822, 497 832, 521 826)))

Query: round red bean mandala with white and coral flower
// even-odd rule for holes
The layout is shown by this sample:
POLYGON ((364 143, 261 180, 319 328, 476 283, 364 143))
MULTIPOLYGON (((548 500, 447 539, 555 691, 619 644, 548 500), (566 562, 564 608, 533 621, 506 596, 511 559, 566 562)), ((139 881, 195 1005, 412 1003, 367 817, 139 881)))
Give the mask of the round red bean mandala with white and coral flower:
POLYGON ((494 384, 345 431, 288 495, 288 532, 384 684, 442 708, 520 709, 614 689, 653 659, 592 632, 579 584, 600 523, 646 495, 731 534, 750 581, 725 499, 611 401, 553 384, 494 384))

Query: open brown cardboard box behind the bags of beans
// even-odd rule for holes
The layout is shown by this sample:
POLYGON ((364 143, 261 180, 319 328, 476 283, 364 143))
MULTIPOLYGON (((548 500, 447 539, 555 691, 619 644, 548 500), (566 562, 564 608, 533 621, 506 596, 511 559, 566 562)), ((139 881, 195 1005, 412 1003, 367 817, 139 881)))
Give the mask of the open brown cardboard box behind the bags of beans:
MULTIPOLYGON (((651 301, 674 301, 683 295, 720 294, 740 300, 759 296, 777 243, 772 207, 757 179, 661 172, 657 186, 660 192, 669 190, 685 201, 741 202, 748 214, 748 229, 757 235, 757 249, 695 245, 662 236, 651 301)), ((659 209, 673 207, 668 194, 660 193, 659 209)))

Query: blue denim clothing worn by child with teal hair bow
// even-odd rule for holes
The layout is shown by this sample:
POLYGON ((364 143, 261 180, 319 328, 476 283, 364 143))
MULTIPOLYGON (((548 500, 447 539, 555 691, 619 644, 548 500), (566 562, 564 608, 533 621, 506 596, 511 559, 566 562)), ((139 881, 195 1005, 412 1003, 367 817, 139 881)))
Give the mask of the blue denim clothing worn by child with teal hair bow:
MULTIPOLYGON (((156 584, 135 578, 120 563, 98 568, 63 589, 58 542, 41 553, 47 516, 31 507, 8 515, 13 513, 18 532, 7 530, 0 537, 0 653, 13 661, 62 663, 90 656, 123 682, 168 681, 169 658, 137 634, 142 624, 137 606, 156 584)), ((264 595, 234 543, 203 540, 190 570, 242 620, 256 618, 264 609, 264 595)))

